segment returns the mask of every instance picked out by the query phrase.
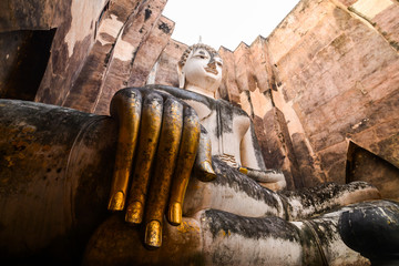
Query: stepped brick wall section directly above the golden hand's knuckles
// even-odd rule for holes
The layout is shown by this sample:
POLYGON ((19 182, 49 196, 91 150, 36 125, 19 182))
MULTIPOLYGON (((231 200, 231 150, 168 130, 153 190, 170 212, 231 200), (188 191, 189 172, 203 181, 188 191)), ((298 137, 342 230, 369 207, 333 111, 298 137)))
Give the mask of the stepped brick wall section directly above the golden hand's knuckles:
POLYGON ((109 114, 117 90, 144 84, 173 31, 174 22, 161 16, 165 4, 166 0, 112 1, 61 105, 109 114))

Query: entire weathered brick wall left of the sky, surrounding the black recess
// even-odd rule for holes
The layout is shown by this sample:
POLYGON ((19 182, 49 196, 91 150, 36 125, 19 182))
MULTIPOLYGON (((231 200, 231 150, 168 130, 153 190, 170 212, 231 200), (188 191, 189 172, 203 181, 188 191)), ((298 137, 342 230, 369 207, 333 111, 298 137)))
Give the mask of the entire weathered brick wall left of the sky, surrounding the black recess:
MULTIPOLYGON (((57 28, 35 101, 108 114, 112 95, 122 88, 145 84, 161 53, 173 42, 174 22, 162 17, 166 1, 11 4, 0 11, 0 19, 19 16, 1 23, 0 33, 57 28)), ((7 76, 0 79, 0 92, 10 94, 1 88, 7 76)))

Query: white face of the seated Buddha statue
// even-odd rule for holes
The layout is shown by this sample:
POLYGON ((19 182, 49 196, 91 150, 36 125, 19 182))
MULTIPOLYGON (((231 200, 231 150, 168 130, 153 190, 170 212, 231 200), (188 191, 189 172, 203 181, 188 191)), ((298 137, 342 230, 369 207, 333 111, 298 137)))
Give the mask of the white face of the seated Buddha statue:
POLYGON ((205 94, 215 94, 222 81, 223 61, 216 53, 211 53, 204 48, 198 48, 192 52, 182 69, 185 75, 184 88, 191 86, 202 89, 205 94))

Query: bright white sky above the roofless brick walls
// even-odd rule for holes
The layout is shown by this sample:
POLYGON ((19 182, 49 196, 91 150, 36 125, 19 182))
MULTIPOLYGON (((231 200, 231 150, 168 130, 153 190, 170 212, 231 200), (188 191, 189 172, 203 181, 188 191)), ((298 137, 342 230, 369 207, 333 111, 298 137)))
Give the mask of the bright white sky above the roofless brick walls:
POLYGON ((299 0, 168 0, 163 16, 176 22, 172 38, 234 51, 268 37, 299 0))

